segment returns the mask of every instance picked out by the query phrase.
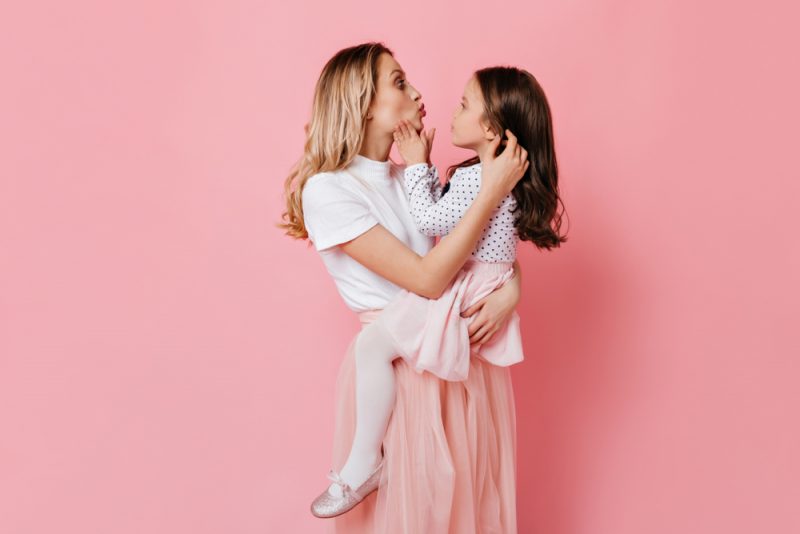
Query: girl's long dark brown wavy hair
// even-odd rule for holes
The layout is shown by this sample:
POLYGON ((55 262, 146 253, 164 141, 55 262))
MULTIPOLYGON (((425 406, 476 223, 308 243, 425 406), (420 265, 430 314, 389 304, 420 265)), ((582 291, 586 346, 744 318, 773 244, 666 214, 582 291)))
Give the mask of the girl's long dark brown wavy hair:
MULTIPOLYGON (((567 241, 560 234, 564 207, 558 191, 558 164, 553 143, 550 105, 534 76, 515 67, 487 67, 475 72, 483 95, 484 119, 495 132, 511 130, 528 151, 530 165, 514 186, 514 225, 522 241, 550 250, 567 241)), ((503 147, 498 147, 498 153, 503 147)), ((447 169, 452 177, 459 167, 480 162, 477 156, 447 169)), ((564 210, 565 212, 566 210, 564 210)))

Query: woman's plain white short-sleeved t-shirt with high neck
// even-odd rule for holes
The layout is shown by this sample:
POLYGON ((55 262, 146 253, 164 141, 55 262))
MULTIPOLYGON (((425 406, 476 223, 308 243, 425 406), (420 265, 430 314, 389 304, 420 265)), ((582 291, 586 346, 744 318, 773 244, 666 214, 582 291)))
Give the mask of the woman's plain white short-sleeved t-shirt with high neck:
POLYGON ((420 256, 435 245, 435 238, 420 232, 411 216, 403 186, 404 167, 359 154, 347 169, 317 173, 303 187, 303 219, 308 237, 345 304, 355 312, 385 307, 401 288, 336 245, 355 239, 376 224, 420 256))

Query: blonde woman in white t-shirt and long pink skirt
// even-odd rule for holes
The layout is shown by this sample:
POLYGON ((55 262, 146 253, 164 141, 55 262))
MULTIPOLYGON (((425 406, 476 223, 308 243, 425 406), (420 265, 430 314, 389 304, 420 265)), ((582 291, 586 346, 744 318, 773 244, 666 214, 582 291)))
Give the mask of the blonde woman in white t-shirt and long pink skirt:
MULTIPOLYGON (((401 288, 441 295, 523 175, 519 158, 487 156, 478 197, 447 239, 436 244, 422 234, 403 189, 403 167, 389 160, 400 121, 422 130, 421 98, 384 45, 339 51, 317 82, 304 154, 286 180, 281 226, 313 242, 362 326, 401 288)), ((477 314, 472 343, 486 343, 511 316, 520 294, 517 264, 515 273, 467 310, 477 314)), ((468 378, 451 382, 395 360, 391 379, 376 375, 364 386, 396 384, 386 421, 376 417, 383 408, 355 412, 356 396, 372 392, 355 391, 353 349, 351 343, 337 377, 334 483, 324 506, 315 501, 315 515, 333 517, 332 531, 348 534, 516 532, 509 369, 473 358, 468 378), (371 442, 373 436, 382 441, 371 442)))

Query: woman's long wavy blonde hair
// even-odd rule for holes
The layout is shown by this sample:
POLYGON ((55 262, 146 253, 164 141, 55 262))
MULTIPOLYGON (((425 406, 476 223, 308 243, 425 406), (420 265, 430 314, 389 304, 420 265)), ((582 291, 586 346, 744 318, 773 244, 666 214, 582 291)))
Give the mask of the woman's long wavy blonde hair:
POLYGON ((286 235, 308 237, 302 202, 308 179, 344 169, 361 149, 367 111, 377 90, 378 58, 384 52, 394 56, 383 43, 363 43, 338 51, 323 67, 314 88, 303 155, 284 182, 286 211, 277 226, 286 235))

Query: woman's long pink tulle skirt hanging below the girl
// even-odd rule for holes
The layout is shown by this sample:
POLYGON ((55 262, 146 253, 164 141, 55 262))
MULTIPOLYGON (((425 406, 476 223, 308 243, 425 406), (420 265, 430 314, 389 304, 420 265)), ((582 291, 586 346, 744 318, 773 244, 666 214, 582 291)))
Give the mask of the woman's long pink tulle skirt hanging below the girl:
MULTIPOLYGON (((362 325, 380 310, 359 314, 362 325)), ((354 340, 355 341, 355 340, 354 340)), ((336 383, 333 464, 344 465, 355 432, 354 342, 336 383)), ((512 534, 517 438, 508 367, 480 358, 450 382, 398 358, 397 398, 384 439, 381 487, 344 515, 336 534, 512 534)))

